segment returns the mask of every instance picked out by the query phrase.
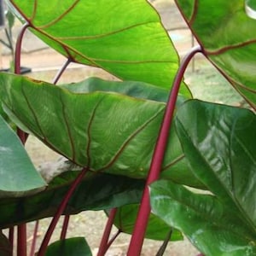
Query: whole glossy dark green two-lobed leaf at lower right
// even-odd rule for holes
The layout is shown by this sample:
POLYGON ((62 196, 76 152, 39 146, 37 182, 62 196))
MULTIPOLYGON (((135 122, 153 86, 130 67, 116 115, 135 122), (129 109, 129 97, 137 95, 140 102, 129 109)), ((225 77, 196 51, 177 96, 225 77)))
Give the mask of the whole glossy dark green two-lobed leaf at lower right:
POLYGON ((189 101, 177 111, 184 154, 213 195, 163 181, 151 186, 151 204, 206 255, 256 252, 255 125, 255 114, 241 108, 189 101))

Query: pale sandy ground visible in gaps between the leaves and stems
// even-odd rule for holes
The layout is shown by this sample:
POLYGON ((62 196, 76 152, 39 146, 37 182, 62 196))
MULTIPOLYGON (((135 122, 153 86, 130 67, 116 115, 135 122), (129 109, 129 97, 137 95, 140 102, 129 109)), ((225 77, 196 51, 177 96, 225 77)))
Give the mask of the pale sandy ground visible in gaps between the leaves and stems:
MULTIPOLYGON (((181 15, 174 5, 173 1, 166 0, 154 0, 151 1, 152 4, 158 11, 160 12, 160 17, 164 26, 170 33, 170 36, 177 48, 179 55, 183 56, 193 44, 195 44, 194 39, 191 36, 191 32, 187 28, 184 23, 181 15)), ((15 27, 18 31, 19 26, 15 27)), ((65 62, 65 58, 61 55, 57 54, 54 50, 49 49, 44 43, 39 41, 37 38, 33 37, 32 34, 27 33, 25 41, 23 43, 23 54, 21 59, 21 65, 25 67, 32 67, 32 73, 29 73, 28 76, 35 79, 43 79, 45 81, 51 81, 61 65, 65 62)), ((3 49, 3 53, 6 53, 6 50, 3 49)), ((9 67, 9 55, 2 55, 0 58, 0 68, 9 67)), ((214 73, 212 67, 206 64, 206 61, 201 60, 201 58, 197 59, 195 63, 189 67, 189 75, 187 81, 189 84, 192 84, 191 90, 195 89, 196 86, 201 86, 201 84, 197 84, 195 78, 201 76, 205 78, 204 83, 207 84, 208 80, 205 73, 198 72, 199 67, 204 67, 204 70, 208 70, 208 76, 214 78, 216 73, 214 73), (199 64, 198 64, 199 63, 199 64), (193 84, 195 87, 193 89, 193 84)), ((61 78, 61 83, 68 82, 76 82, 82 79, 86 79, 91 76, 101 77, 103 79, 114 79, 112 75, 105 73, 101 69, 95 67, 82 67, 78 64, 72 64, 68 67, 67 72, 64 73, 61 78)), ((216 79, 212 79, 216 81, 216 79)), ((225 84, 224 79, 218 79, 218 84, 225 84)), ((208 84, 210 88, 212 84, 208 84)), ((207 90, 207 89, 206 89, 207 90)), ((224 90, 224 95, 230 95, 230 90, 224 90)), ((197 96, 201 97, 202 93, 198 93, 197 96)), ((209 95, 209 94, 208 94, 209 95)), ((226 97, 224 97, 226 98, 226 97)), ((241 99, 238 97, 235 99, 232 98, 231 102, 239 102, 241 99)), ((26 143, 26 148, 29 154, 32 157, 32 161, 36 166, 44 163, 45 161, 56 160, 59 155, 52 152, 49 148, 44 146, 42 143, 38 142, 38 140, 34 137, 30 137, 28 142, 26 143)), ((85 236, 87 241, 92 248, 93 254, 96 255, 97 247, 100 243, 100 238, 102 236, 102 231, 104 229, 104 225, 106 222, 106 216, 104 212, 82 212, 78 215, 72 216, 71 223, 68 230, 68 236, 85 236)), ((44 236, 44 232, 46 231, 49 224, 49 218, 41 221, 40 230, 38 232, 39 240, 44 236)), ((32 225, 29 224, 29 233, 32 234, 32 225)), ((60 228, 58 228, 53 236, 53 241, 58 239, 60 228)), ((28 240, 31 240, 31 237, 28 237, 28 240)), ((113 247, 107 253, 108 256, 121 256, 125 255, 126 248, 129 245, 130 236, 122 234, 117 241, 113 243, 113 247)), ((160 247, 161 242, 159 241, 149 241, 146 240, 143 247, 142 255, 145 256, 153 256, 156 254, 157 249, 160 247)), ((192 256, 197 254, 198 252, 195 250, 193 246, 189 243, 189 241, 178 241, 172 242, 165 253, 165 255, 172 256, 192 256)))

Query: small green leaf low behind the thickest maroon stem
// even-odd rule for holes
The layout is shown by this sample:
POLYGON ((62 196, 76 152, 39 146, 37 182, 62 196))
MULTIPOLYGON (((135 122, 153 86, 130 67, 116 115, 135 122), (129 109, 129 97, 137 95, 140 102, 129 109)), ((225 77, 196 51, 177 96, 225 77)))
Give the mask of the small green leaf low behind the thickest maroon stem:
MULTIPOLYGON (((138 207, 138 204, 119 207, 114 218, 114 225, 122 232, 132 234, 137 218, 138 207)), ((145 238, 164 241, 170 230, 171 228, 162 219, 150 213, 145 238)), ((183 235, 180 231, 173 229, 171 240, 183 240, 183 235)))

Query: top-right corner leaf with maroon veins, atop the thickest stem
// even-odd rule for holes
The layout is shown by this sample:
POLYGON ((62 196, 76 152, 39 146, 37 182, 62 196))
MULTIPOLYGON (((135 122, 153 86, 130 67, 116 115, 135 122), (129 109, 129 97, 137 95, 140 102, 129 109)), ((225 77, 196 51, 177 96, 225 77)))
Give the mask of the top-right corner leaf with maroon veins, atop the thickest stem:
POLYGON ((176 0, 207 57, 256 108, 256 20, 244 0, 176 0))

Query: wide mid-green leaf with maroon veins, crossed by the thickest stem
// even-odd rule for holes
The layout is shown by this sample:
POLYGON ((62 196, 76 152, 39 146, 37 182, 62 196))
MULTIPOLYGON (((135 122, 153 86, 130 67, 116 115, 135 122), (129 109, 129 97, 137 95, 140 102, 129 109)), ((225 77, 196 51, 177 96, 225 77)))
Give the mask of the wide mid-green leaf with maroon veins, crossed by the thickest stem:
MULTIPOLYGON (((90 79, 85 85, 94 83, 98 79, 90 79)), ((0 96, 5 110, 15 115, 16 121, 79 166, 88 166, 94 172, 145 178, 166 107, 163 94, 167 90, 127 83, 99 83, 108 85, 112 92, 91 85, 94 90, 90 93, 86 92, 88 89, 81 92, 84 85, 78 84, 79 92, 73 92, 67 88, 76 84, 64 89, 2 73, 0 96), (121 94, 127 88, 131 95, 135 94, 136 85, 141 98, 121 94)), ((177 182, 201 185, 189 171, 174 129, 170 132, 163 171, 165 177, 177 182), (179 172, 172 172, 173 168, 179 172)))

